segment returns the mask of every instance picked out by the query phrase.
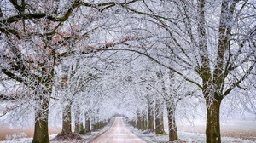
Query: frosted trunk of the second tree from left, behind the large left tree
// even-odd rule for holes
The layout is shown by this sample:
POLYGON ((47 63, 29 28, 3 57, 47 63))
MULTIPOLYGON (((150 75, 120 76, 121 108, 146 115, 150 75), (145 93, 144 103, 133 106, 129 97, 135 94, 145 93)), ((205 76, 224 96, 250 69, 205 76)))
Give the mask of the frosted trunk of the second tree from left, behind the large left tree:
POLYGON ((64 107, 62 115, 62 131, 61 134, 72 133, 71 129, 71 105, 68 104, 64 107))

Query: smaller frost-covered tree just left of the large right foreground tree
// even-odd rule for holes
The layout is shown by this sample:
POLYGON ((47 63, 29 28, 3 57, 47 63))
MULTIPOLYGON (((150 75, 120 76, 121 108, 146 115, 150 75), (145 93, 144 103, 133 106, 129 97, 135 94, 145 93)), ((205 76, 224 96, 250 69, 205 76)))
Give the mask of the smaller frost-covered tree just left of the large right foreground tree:
POLYGON ((195 89, 193 89, 193 86, 188 87, 188 84, 185 84, 183 80, 180 80, 176 74, 170 70, 163 71, 160 69, 156 74, 159 79, 156 83, 157 91, 166 102, 169 140, 177 140, 177 104, 187 96, 195 94, 195 89))

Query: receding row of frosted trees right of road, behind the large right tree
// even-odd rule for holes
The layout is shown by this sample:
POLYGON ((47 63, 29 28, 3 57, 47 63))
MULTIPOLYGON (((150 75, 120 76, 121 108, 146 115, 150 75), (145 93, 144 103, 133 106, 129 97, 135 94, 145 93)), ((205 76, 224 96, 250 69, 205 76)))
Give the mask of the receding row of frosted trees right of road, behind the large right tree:
MULTIPOLYGON (((145 61, 144 58, 138 59, 145 61)), ((152 64, 154 65, 152 62, 148 62, 146 66, 152 64)), ((183 103, 188 103, 183 104, 183 106, 187 106, 191 111, 198 110, 189 107, 192 104, 198 104, 197 101, 187 100, 187 98, 191 97, 201 100, 200 96, 196 96, 196 94, 199 94, 198 90, 191 85, 189 87, 172 71, 160 68, 160 66, 155 66, 148 70, 144 69, 143 71, 139 76, 140 78, 129 81, 134 84, 132 86, 140 87, 140 89, 134 88, 134 90, 145 90, 139 96, 137 95, 137 100, 139 100, 137 103, 139 104, 131 108, 135 115, 133 118, 130 117, 131 121, 129 123, 143 131, 166 134, 164 129, 164 111, 166 111, 167 115, 165 118, 168 121, 169 140, 178 140, 176 124, 177 105, 180 101, 184 101, 183 103)))

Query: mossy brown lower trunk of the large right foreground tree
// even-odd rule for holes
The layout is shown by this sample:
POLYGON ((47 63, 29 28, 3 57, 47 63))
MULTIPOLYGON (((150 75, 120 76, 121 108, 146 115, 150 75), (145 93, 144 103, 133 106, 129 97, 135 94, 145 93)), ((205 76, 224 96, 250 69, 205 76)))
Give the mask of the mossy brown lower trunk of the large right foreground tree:
POLYGON ((219 126, 220 104, 221 99, 214 100, 211 103, 207 100, 207 143, 221 143, 219 126))

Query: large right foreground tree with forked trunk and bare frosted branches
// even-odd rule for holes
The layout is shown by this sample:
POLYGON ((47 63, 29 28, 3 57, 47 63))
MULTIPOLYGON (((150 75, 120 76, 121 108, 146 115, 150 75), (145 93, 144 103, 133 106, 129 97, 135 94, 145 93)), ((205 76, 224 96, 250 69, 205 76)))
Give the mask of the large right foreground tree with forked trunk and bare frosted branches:
POLYGON ((159 43, 149 45, 147 52, 126 50, 136 50, 201 89, 207 106, 207 142, 221 142, 221 101, 241 89, 255 68, 255 3, 199 0, 138 5, 126 9, 147 16, 142 20, 151 23, 153 28, 147 30, 154 35, 160 31, 153 38, 159 43), (168 65, 170 61, 174 65, 168 65))

